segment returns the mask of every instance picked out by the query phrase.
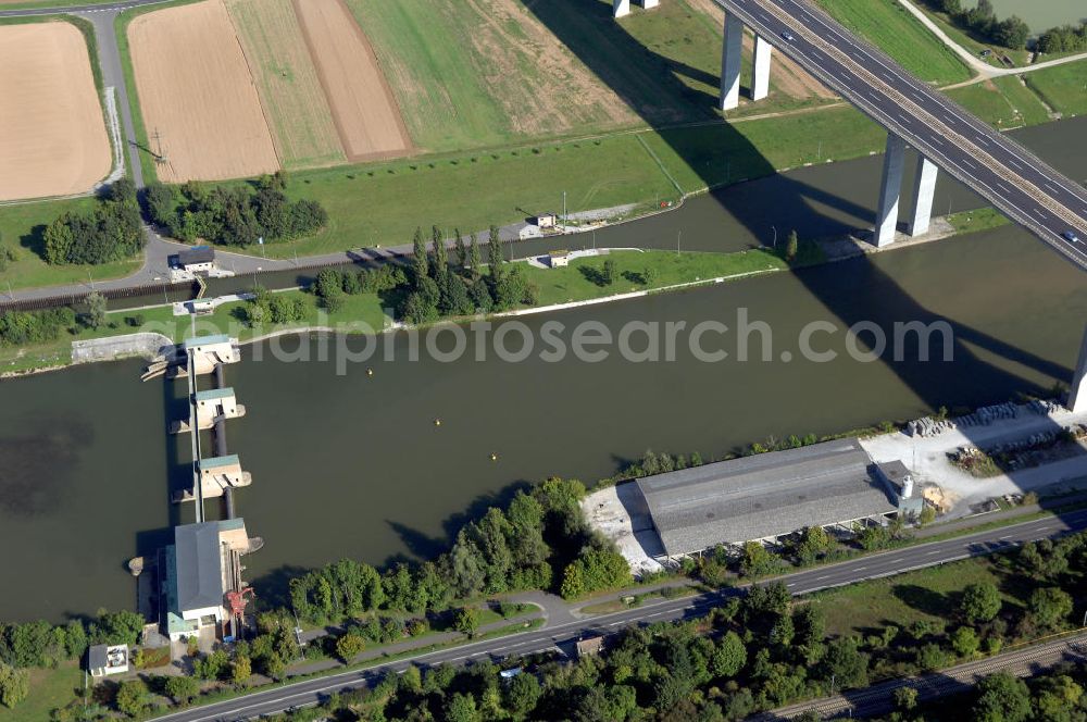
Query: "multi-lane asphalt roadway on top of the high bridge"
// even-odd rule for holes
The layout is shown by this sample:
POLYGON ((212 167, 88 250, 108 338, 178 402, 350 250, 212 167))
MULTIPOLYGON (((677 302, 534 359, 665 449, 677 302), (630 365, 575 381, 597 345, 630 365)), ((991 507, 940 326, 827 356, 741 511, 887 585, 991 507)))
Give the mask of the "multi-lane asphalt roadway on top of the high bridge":
POLYGON ((1087 270, 1087 189, 913 77, 812 3, 716 2, 940 169, 1087 270), (1069 231, 1080 240, 1063 238, 1069 231))

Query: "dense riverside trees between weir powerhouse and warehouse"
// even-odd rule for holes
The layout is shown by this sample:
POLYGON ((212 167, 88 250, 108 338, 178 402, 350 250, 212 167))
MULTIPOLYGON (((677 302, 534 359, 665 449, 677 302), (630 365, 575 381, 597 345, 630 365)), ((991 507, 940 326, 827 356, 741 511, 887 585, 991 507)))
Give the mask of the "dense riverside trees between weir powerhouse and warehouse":
POLYGON ((377 610, 422 615, 484 594, 579 596, 629 583, 626 561, 586 523, 578 506, 584 495, 580 482, 548 480, 518 491, 504 510, 490 507, 465 524, 433 561, 378 571, 345 559, 296 577, 291 607, 301 619, 326 623, 377 610))

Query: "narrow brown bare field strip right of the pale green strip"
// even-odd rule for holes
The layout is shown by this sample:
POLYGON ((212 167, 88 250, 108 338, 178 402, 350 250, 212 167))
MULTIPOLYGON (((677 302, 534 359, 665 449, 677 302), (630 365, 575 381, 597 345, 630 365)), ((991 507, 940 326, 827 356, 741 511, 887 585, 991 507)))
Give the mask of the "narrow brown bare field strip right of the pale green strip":
POLYGON ((351 160, 401 155, 408 129, 370 42, 341 0, 295 0, 295 10, 351 160))

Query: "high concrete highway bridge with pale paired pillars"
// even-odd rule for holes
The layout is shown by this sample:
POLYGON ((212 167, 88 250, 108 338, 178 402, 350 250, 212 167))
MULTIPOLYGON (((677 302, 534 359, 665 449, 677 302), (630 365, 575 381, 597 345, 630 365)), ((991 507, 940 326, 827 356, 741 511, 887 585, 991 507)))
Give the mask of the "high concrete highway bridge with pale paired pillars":
MULTIPOLYGON (((1087 271, 1087 189, 1050 167, 939 90, 919 80, 807 0, 715 0, 725 10, 721 109, 739 104, 744 27, 755 36, 751 100, 770 92, 776 47, 824 85, 887 129, 879 203, 872 242, 886 246, 898 233, 907 146, 917 152, 913 206, 905 233, 928 231, 940 170, 973 189, 1004 215, 1087 271)), ((647 9, 658 0, 642 0, 647 9)), ((614 0, 615 16, 630 12, 614 0)), ((1087 335, 1069 401, 1087 410, 1087 335)))

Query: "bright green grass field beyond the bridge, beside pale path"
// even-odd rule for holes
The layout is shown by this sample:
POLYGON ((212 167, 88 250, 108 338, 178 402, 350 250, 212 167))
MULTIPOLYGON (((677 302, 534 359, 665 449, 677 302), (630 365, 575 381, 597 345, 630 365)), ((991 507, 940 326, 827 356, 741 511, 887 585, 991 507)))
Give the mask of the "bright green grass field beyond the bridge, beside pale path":
POLYGON ((869 39, 923 80, 970 79, 970 69, 895 0, 817 0, 839 23, 869 39))

